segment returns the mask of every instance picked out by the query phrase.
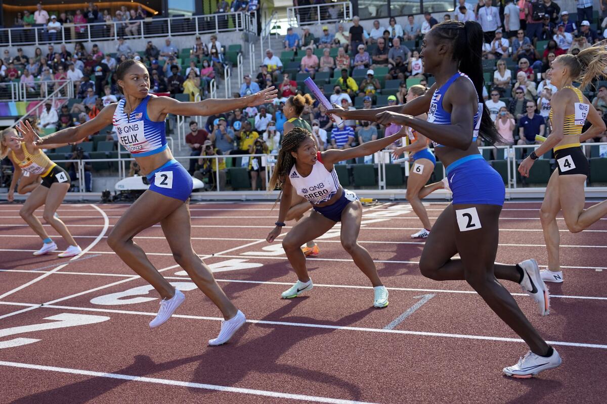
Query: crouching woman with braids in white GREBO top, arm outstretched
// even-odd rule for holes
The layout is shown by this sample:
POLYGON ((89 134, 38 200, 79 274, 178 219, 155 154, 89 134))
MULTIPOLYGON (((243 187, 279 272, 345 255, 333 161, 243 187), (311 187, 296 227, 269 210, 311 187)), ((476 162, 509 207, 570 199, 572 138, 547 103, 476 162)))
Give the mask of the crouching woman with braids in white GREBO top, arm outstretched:
POLYGON ((313 211, 310 216, 299 220, 282 240, 282 247, 297 274, 297 282, 282 293, 283 299, 296 297, 310 291, 314 286, 306 268, 304 253, 299 247, 309 240, 322 236, 337 222, 341 222, 342 246, 350 254, 356 266, 371 281, 374 293, 373 306, 381 308, 388 305, 388 290, 379 279, 375 263, 368 251, 358 243, 362 218, 361 201, 353 192, 345 190, 339 184, 334 164, 369 156, 383 150, 401 136, 402 134, 396 133, 358 147, 320 152, 310 131, 293 128, 285 134, 270 180, 270 189, 276 186, 282 188, 280 211, 276 227, 270 231, 266 240, 273 242, 282 231, 285 217, 291 207, 293 191, 309 200, 313 211))

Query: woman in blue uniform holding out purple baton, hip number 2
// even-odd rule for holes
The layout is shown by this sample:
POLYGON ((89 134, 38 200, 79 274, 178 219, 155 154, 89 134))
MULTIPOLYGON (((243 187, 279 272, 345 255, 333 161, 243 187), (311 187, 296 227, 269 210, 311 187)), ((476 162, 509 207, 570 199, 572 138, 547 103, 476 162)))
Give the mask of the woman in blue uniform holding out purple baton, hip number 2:
POLYGON ((436 156, 446 166, 453 203, 436 220, 419 269, 434 280, 466 280, 529 345, 529 352, 503 372, 508 376, 532 377, 559 366, 561 358, 498 282, 504 279, 519 283, 537 302, 540 314, 548 314, 548 290, 535 260, 517 265, 494 262, 504 184, 476 146, 477 135, 490 144, 500 140, 489 113, 486 109, 481 113, 479 108, 483 88, 482 47, 483 30, 478 22, 436 24, 422 41, 424 71, 436 78, 426 95, 398 107, 328 113, 337 113, 345 119, 409 126, 434 142, 436 156), (429 111, 427 121, 414 118, 425 111, 429 111), (459 258, 453 258, 455 254, 459 258))

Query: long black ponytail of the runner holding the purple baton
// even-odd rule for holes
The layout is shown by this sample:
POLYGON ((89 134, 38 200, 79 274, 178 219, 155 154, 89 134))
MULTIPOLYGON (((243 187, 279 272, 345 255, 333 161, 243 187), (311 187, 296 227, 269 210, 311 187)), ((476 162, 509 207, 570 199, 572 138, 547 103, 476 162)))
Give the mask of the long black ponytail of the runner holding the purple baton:
MULTIPOLYGON (((483 28, 476 21, 443 21, 432 28, 441 39, 452 42, 453 60, 458 61, 459 71, 468 76, 476 88, 478 102, 483 102, 483 28)), ((483 108, 481 127, 478 133, 485 142, 503 142, 495 129, 489 110, 483 108)))

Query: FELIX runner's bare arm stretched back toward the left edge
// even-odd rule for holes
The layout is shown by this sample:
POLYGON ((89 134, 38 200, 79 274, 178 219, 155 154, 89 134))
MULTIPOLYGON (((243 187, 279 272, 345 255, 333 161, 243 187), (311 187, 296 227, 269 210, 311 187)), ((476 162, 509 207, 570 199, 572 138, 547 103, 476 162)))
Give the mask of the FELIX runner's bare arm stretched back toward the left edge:
POLYGON ((21 137, 15 137, 19 141, 24 141, 27 144, 34 144, 36 148, 50 148, 55 147, 57 144, 74 143, 84 139, 95 132, 100 131, 107 125, 112 124, 112 116, 114 116, 114 110, 116 104, 107 105, 101 112, 90 121, 84 122, 84 124, 59 130, 49 136, 40 137, 32 125, 29 122, 23 121, 16 125, 16 129, 21 133, 21 137), (47 146, 48 145, 48 146, 47 146))

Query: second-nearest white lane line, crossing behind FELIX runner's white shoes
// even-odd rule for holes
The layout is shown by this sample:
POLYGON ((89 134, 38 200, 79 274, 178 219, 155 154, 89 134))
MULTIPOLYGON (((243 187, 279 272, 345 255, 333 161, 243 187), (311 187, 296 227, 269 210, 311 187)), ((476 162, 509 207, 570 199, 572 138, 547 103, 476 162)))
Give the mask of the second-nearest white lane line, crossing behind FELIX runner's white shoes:
MULTIPOLYGON (((21 303, 22 305, 23 303, 21 303)), ((38 305, 36 305, 38 307, 38 305)), ((57 310, 74 310, 74 311, 92 311, 95 313, 116 313, 116 314, 132 314, 136 316, 148 316, 155 317, 158 313, 152 313, 148 311, 132 311, 132 310, 116 310, 107 308, 92 308, 92 307, 76 307, 76 306, 57 306, 57 305, 44 305, 45 308, 52 308, 57 310)), ((193 320, 210 320, 210 321, 223 321, 223 317, 205 317, 205 316, 191 316, 189 314, 173 314, 172 318, 178 319, 193 319, 193 320)), ((268 325, 283 325, 293 327, 304 327, 304 328, 324 328, 324 329, 339 329, 344 331, 362 331, 365 333, 388 333, 388 334, 404 334, 413 336, 425 336, 425 337, 443 337, 443 338, 455 338, 455 339, 472 339, 472 340, 486 340, 486 341, 497 341, 497 342, 522 342, 520 338, 510 337, 493 337, 493 336, 478 336, 472 334, 450 334, 450 333, 434 333, 430 331, 409 331, 404 329, 384 329, 384 328, 368 328, 368 327, 354 327, 345 325, 328 325, 328 324, 314 324, 314 323, 295 323, 286 321, 270 321, 270 320, 246 320, 247 323, 251 324, 268 324, 268 325)), ((563 346, 577 346, 578 348, 594 348, 594 349, 607 349, 607 345, 599 343, 584 343, 584 342, 567 342, 567 341, 546 341, 551 345, 563 345, 563 346)))

